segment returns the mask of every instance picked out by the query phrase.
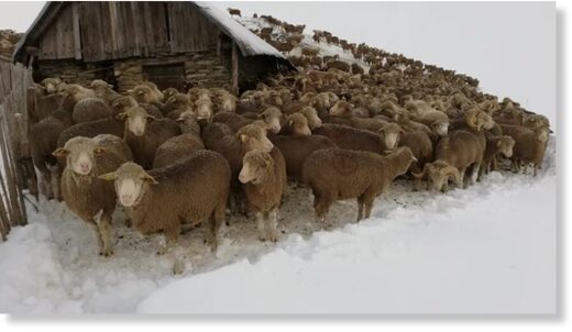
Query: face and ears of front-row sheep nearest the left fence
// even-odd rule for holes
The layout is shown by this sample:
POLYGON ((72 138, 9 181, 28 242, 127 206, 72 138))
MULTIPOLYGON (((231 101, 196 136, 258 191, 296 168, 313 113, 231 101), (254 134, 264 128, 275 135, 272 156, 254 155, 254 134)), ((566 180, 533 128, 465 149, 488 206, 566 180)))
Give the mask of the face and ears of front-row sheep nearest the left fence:
POLYGON ((53 155, 66 157, 67 167, 78 175, 89 175, 96 164, 96 155, 103 153, 94 140, 82 136, 70 139, 63 148, 56 150, 53 155))

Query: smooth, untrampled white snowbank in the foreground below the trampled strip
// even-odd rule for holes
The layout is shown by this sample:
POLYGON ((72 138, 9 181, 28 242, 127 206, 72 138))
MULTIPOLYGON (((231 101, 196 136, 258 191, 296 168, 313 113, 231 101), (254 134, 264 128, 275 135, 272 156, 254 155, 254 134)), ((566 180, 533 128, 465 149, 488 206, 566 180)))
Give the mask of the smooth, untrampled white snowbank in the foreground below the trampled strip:
POLYGON ((308 241, 293 234, 257 263, 158 289, 138 311, 554 313, 554 177, 508 190, 495 178, 308 241))

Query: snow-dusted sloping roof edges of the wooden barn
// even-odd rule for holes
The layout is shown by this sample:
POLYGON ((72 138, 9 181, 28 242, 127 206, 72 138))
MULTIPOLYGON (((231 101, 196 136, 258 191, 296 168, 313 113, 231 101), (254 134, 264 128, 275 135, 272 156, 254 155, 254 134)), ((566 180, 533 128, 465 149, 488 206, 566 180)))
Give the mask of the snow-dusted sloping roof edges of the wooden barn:
MULTIPOLYGON (((22 59, 25 46, 30 41, 37 40, 45 29, 50 26, 53 19, 57 16, 65 3, 63 1, 48 1, 28 29, 25 34, 15 45, 13 62, 22 59)), ((227 34, 239 46, 243 56, 270 55, 288 62, 285 56, 274 46, 270 45, 249 29, 232 19, 227 12, 216 8, 211 3, 201 1, 189 1, 189 4, 197 5, 199 10, 215 23, 224 34, 227 34)))

